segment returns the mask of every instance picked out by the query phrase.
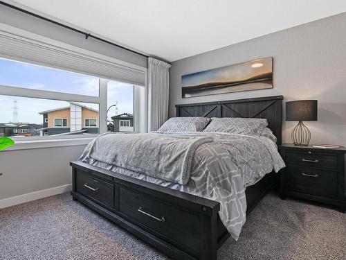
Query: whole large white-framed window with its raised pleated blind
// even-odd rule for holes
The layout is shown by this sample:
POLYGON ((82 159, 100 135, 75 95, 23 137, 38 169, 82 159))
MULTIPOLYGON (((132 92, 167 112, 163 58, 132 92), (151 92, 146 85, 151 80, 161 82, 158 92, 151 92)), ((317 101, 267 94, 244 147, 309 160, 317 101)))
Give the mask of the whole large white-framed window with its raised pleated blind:
MULTIPOLYGON (((118 129, 118 123, 113 125, 114 120, 111 117, 125 112, 135 116, 134 121, 131 120, 132 126, 129 128, 135 126, 138 132, 147 130, 147 89, 143 87, 147 83, 147 68, 101 53, 69 46, 53 39, 39 37, 28 31, 19 33, 16 28, 10 26, 0 25, 0 27, 2 53, 0 56, 0 123, 13 122, 15 126, 28 123, 30 132, 35 131, 35 134, 31 136, 37 136, 37 132, 40 132, 40 135, 35 137, 39 139, 47 133, 46 138, 50 139, 51 135, 60 135, 52 134, 52 131, 48 129, 54 125, 54 118, 66 118, 70 133, 73 135, 87 133, 87 137, 91 137, 91 133, 107 132, 107 125, 111 125, 110 129, 118 129), (122 90, 122 87, 114 87, 114 85, 126 85, 123 89, 128 94, 118 92, 118 90, 122 90), (27 106, 21 102, 15 109, 12 108, 16 107, 12 102, 14 98, 10 97, 16 97, 19 102, 24 97, 27 98, 26 101, 35 99, 37 102, 27 106), (10 104, 2 103, 3 100, 9 98, 11 99, 10 104), (77 109, 71 110, 70 116, 55 114, 53 117, 47 115, 47 119, 44 119, 45 117, 37 112, 55 110, 55 107, 49 108, 48 105, 45 105, 44 109, 39 109, 37 106, 51 103, 51 101, 69 103, 67 106, 72 108, 73 105, 70 105, 72 102, 88 103, 97 106, 99 114, 95 116, 94 113, 91 113, 91 115, 80 116, 80 111, 77 109), (107 114, 107 108, 116 101, 118 101, 118 113, 115 111, 116 106, 113 106, 107 114), (35 107, 31 107, 31 105, 35 105, 35 107), (126 106, 130 108, 127 109, 126 106), (37 117, 39 117, 39 121, 36 121, 37 117), (98 126, 89 127, 86 129, 87 132, 84 132, 85 129, 81 128, 85 126, 86 118, 96 118, 98 126), (31 128, 31 125, 35 124, 37 127, 31 128)), ((91 105, 88 106, 91 107, 91 105)), ((63 125, 63 122, 61 123, 63 125)), ((62 131, 63 128, 57 127, 55 130, 62 131)), ((65 127, 64 130, 67 128, 65 127)), ((70 135, 70 133, 66 134, 70 135)), ((34 137, 21 139, 26 138, 35 139, 34 137)))

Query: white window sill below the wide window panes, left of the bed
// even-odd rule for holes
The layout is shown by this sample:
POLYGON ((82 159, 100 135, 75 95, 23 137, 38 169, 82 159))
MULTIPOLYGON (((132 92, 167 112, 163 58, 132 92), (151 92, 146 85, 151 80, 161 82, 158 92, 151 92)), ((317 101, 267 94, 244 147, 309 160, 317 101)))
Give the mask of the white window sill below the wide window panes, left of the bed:
POLYGON ((15 144, 6 148, 2 152, 10 150, 26 150, 37 148, 52 148, 62 146, 85 146, 89 144, 95 137, 88 138, 70 138, 70 139, 46 139, 46 140, 30 140, 30 141, 15 141, 15 144))

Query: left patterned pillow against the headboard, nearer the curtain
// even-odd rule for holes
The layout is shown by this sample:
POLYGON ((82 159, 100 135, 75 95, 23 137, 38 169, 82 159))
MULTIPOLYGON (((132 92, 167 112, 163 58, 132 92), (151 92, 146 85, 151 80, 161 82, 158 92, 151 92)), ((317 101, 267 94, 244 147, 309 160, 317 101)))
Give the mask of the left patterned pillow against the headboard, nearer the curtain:
POLYGON ((207 117, 171 117, 158 132, 200 132, 209 120, 207 117))

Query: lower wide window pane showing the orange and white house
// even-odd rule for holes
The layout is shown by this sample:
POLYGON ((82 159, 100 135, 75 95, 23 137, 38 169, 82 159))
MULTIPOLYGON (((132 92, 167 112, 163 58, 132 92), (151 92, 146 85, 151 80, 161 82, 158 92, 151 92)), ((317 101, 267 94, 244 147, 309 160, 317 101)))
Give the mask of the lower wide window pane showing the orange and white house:
POLYGON ((0 135, 98 134, 98 118, 98 104, 0 95, 0 135), (86 119, 93 128, 85 128, 86 119))

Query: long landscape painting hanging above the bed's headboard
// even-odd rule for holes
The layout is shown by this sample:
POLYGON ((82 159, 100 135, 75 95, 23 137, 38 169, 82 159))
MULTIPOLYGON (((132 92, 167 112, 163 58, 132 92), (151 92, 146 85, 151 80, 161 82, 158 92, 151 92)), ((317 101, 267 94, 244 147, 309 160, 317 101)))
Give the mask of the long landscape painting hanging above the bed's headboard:
POLYGON ((273 58, 200 71, 181 77, 183 98, 273 87, 273 58))

